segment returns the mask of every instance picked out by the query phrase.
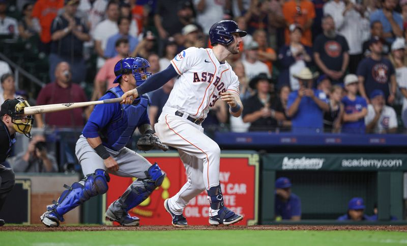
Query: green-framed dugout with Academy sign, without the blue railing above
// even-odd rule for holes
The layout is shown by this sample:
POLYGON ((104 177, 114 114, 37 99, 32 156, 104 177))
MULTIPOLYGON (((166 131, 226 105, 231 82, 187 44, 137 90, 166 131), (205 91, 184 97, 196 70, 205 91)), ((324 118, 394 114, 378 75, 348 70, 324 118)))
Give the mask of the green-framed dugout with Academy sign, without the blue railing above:
POLYGON ((362 197, 367 215, 377 203, 380 221, 403 214, 403 173, 407 155, 264 154, 261 156, 261 224, 274 222, 274 180, 288 177, 302 201, 303 220, 336 220, 353 197, 362 197))

